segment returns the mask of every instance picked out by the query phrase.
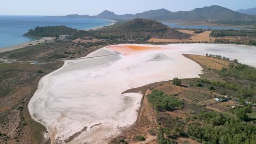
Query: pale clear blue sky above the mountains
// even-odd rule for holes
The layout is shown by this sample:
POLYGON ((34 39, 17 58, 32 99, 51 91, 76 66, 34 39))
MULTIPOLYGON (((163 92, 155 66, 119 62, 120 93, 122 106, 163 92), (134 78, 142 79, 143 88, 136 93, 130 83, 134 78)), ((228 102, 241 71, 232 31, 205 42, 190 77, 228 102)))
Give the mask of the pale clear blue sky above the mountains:
POLYGON ((160 8, 193 10, 213 4, 238 10, 256 7, 256 0, 1 0, 0 15, 97 15, 103 10, 135 14, 160 8))

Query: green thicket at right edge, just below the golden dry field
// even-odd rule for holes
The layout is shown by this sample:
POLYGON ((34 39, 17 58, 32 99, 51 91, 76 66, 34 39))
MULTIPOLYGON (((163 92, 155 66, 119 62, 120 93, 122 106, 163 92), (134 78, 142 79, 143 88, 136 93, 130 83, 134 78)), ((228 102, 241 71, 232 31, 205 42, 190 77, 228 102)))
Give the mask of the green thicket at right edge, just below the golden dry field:
MULTIPOLYGON (((235 61, 234 63, 237 63, 235 61)), ((242 79, 247 79, 247 80, 256 80, 256 69, 249 67, 248 65, 245 64, 230 64, 228 68, 223 68, 220 71, 220 75, 222 76, 233 76, 233 77, 240 77, 242 79)))

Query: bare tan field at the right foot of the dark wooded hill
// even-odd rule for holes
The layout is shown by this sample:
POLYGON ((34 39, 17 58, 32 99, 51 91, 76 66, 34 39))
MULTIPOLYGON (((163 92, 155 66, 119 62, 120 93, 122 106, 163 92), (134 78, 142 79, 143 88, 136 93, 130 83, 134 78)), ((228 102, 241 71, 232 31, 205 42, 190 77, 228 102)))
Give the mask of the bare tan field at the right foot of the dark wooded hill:
POLYGON ((148 41, 151 42, 155 42, 155 43, 174 43, 174 42, 187 42, 187 41, 193 41, 193 42, 197 42, 197 41, 208 41, 210 42, 210 33, 211 31, 205 31, 202 33, 194 33, 194 31, 189 31, 189 30, 183 30, 183 29, 177 29, 177 31, 179 32, 183 32, 183 33, 188 33, 188 34, 193 34, 189 39, 149 39, 148 41))

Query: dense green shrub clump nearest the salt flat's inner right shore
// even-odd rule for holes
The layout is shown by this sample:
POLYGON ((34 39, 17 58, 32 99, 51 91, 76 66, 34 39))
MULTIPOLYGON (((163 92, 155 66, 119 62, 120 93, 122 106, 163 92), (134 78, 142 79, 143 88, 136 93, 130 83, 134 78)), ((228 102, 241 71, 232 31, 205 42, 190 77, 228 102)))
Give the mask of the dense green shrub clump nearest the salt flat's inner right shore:
POLYGON ((171 95, 154 89, 151 94, 147 95, 148 101, 157 111, 172 111, 176 107, 183 107, 183 101, 178 100, 171 95))

